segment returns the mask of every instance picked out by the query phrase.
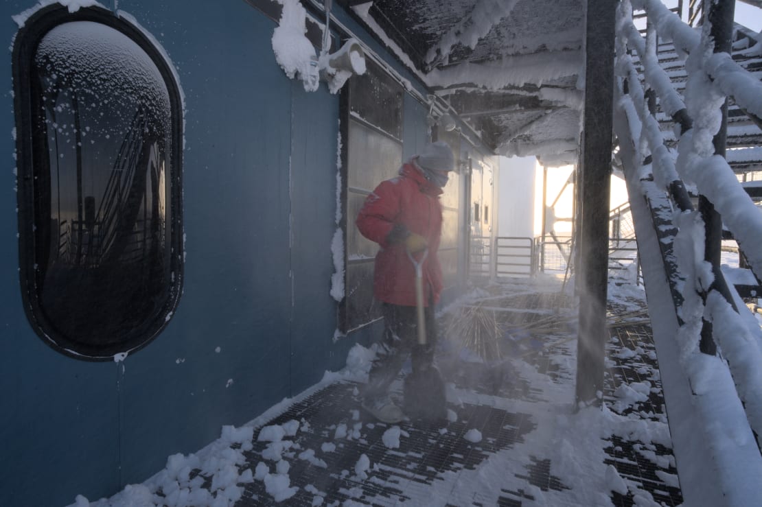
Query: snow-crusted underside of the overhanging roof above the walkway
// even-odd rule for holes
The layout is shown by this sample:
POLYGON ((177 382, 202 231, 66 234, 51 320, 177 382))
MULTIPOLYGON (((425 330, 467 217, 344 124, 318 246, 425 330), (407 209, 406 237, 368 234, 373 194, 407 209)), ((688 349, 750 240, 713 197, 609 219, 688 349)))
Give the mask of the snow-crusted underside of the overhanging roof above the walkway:
POLYGON ((584 0, 338 0, 500 155, 575 164, 584 0))

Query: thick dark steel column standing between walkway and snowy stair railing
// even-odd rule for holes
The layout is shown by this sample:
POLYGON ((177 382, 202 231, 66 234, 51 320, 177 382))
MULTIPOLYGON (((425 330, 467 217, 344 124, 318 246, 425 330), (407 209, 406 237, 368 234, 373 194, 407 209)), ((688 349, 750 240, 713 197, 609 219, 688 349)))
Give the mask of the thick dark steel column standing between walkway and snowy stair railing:
POLYGON ((577 342, 578 403, 600 403, 608 341, 606 297, 613 129, 614 0, 588 0, 577 342))

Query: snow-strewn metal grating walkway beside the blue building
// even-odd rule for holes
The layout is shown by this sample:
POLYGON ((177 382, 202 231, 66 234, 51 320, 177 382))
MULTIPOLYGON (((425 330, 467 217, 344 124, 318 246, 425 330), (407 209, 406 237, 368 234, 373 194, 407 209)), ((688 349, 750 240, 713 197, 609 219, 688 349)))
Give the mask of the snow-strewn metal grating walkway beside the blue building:
MULTIPOLYGON (((359 410, 358 378, 337 376, 257 419, 253 439, 218 445, 246 470, 232 474, 232 489, 208 458, 185 480, 165 474, 219 505, 223 496, 230 505, 680 505, 645 302, 615 292, 603 410, 573 410, 572 298, 555 279, 514 282, 440 315, 447 423, 376 422, 359 410)), ((368 351, 356 352, 361 365, 368 351)), ((394 387, 401 397, 402 381, 394 387)), ((168 504, 180 494, 153 493, 168 504)))

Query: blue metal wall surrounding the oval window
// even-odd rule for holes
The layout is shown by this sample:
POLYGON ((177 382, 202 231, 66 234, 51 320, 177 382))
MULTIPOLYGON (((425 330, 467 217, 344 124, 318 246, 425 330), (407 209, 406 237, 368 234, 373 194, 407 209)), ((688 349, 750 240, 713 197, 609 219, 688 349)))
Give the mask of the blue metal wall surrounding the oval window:
MULTIPOLYGON (((7 46, 11 16, 34 3, 0 5, 7 46)), ((18 281, 13 97, 0 95, 0 505, 65 505, 142 482, 168 455, 341 368, 375 334, 332 340, 338 95, 290 81, 274 21, 243 0, 118 7, 162 43, 185 94, 184 295, 166 330, 121 363, 71 359, 36 336, 18 281)), ((10 52, 0 80, 11 83, 10 52)), ((427 141, 426 113, 406 100, 405 156, 427 141)))

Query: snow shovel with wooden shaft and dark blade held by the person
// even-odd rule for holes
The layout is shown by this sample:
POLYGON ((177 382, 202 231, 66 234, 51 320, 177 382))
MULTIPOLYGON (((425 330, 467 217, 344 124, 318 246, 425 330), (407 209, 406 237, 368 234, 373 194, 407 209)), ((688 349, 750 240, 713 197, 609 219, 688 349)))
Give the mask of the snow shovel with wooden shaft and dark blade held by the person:
MULTIPOLYGON (((408 250, 408 257, 415 266, 415 309, 418 316, 418 343, 414 347, 426 347, 426 318, 424 314, 423 264, 428 256, 424 250, 421 260, 415 260, 408 250)), ((447 397, 444 394, 444 381, 439 370, 433 364, 424 365, 405 377, 404 412, 410 419, 422 419, 425 422, 440 422, 447 417, 447 397)))

